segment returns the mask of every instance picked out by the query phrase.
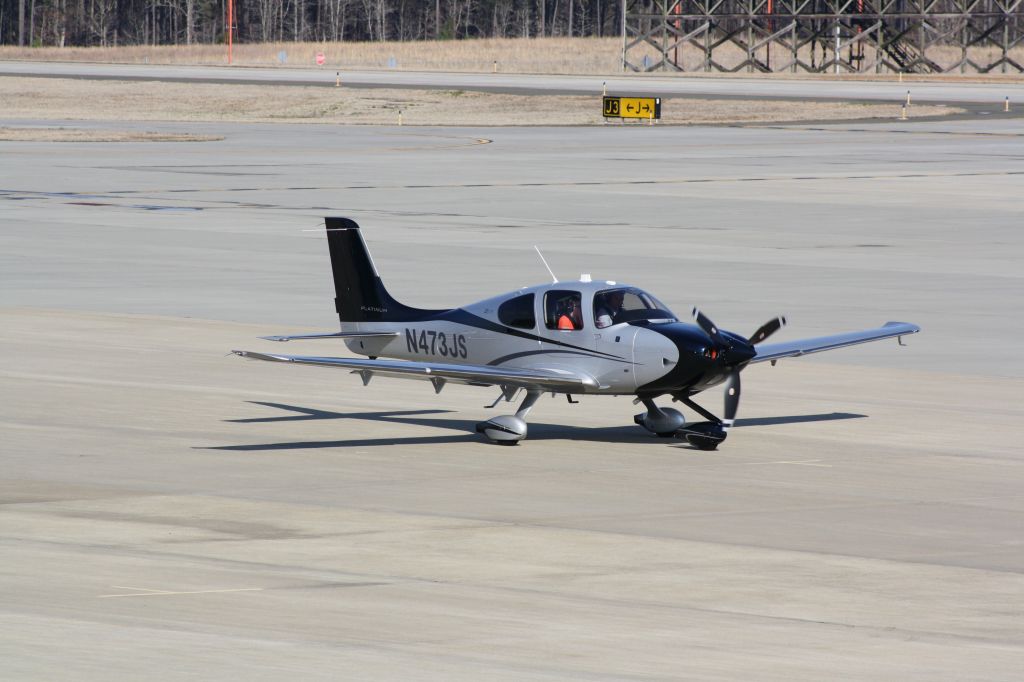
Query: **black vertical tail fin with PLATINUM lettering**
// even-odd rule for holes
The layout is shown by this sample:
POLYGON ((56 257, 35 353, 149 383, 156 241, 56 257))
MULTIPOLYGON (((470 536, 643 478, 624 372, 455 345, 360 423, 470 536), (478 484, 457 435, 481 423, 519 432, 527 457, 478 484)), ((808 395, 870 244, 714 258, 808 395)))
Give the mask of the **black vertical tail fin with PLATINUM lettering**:
POLYGON ((394 300, 374 267, 355 221, 326 221, 334 270, 334 303, 341 322, 415 322, 444 312, 411 308, 394 300))

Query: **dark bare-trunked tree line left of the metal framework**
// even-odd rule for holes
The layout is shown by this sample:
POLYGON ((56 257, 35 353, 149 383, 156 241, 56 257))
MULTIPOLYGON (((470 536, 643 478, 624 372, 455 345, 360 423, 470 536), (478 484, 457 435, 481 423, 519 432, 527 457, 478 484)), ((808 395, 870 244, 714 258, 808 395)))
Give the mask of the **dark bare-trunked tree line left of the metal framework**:
MULTIPOLYGON (((238 42, 614 36, 623 0, 234 0, 238 42)), ((0 0, 0 44, 226 42, 227 0, 0 0)))

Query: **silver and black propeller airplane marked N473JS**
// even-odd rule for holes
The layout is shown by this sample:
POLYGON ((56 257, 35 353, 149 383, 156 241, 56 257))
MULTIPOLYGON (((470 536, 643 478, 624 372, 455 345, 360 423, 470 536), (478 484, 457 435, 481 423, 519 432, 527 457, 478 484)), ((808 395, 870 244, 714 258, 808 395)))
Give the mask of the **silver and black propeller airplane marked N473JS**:
MULTIPOLYGON (((349 370, 368 384, 375 375, 445 384, 497 386, 502 399, 525 397, 514 415, 477 424, 492 442, 526 437, 526 415, 544 393, 631 395, 646 412, 634 421, 663 437, 676 436, 701 450, 725 440, 739 406, 739 373, 748 365, 795 357, 868 341, 915 334, 907 323, 834 336, 764 343, 784 324, 769 321, 750 338, 718 329, 693 308, 696 322, 679 319, 656 298, 615 282, 553 282, 527 287, 460 308, 424 310, 388 294, 359 233, 348 218, 327 218, 334 270, 335 306, 341 331, 265 337, 341 339, 367 358, 281 355, 234 350, 273 363, 349 370), (380 359, 382 357, 394 359, 380 359), (722 418, 693 395, 726 384, 722 418), (659 408, 670 396, 707 421, 687 423, 677 410, 659 408)), ((554 278, 552 278, 554 279, 554 278)), ((495 407, 492 406, 492 407, 495 407)))

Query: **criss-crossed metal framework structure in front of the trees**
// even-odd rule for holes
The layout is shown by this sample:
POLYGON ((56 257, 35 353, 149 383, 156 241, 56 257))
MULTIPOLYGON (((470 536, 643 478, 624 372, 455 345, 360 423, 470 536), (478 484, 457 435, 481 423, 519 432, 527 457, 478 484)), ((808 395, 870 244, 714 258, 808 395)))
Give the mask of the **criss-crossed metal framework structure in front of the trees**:
POLYGON ((623 70, 1022 73, 1024 0, 624 0, 623 70))

